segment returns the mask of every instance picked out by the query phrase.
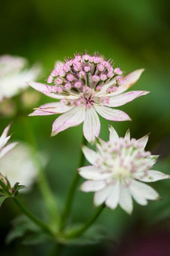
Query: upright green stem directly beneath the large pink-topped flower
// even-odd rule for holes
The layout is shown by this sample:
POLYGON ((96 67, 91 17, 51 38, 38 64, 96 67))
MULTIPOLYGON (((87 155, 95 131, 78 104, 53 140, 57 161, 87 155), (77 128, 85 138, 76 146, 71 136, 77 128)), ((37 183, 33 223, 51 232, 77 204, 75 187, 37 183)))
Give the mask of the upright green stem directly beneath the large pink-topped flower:
MULTIPOLYGON (((87 144, 87 140, 84 138, 84 136, 82 136, 82 144, 84 144, 84 145, 87 144)), ((85 159, 85 157, 84 157, 84 154, 81 150, 80 151, 78 168, 83 166, 84 159, 85 159)), ((72 180, 72 183, 70 185, 70 188, 68 190, 66 204, 65 204, 65 207, 64 207, 64 211, 63 211, 63 215, 62 215, 62 221, 61 221, 61 225, 60 225, 60 231, 62 231, 63 228, 65 227, 67 218, 70 215, 70 211, 71 211, 71 207, 72 207, 72 203, 73 203, 73 200, 74 200, 74 196, 75 196, 75 192, 76 192, 76 188, 77 188, 79 179, 80 179, 80 175, 78 174, 78 172, 76 172, 75 176, 72 180)))

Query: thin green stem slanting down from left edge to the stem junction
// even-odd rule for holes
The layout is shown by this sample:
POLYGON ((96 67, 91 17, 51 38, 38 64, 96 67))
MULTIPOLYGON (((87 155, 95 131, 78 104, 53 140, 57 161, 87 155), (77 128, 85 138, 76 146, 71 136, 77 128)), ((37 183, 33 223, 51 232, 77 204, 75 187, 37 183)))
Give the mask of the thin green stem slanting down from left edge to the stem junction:
POLYGON ((13 201, 17 204, 17 206, 20 208, 24 214, 31 219, 37 226, 39 226, 42 230, 44 230, 46 233, 50 234, 51 236, 54 236, 52 231, 49 229, 49 227, 39 219, 37 219, 30 211, 27 210, 27 208, 16 198, 12 196, 12 193, 9 192, 7 186, 3 183, 3 181, 0 179, 0 186, 5 190, 7 195, 13 199, 13 201))

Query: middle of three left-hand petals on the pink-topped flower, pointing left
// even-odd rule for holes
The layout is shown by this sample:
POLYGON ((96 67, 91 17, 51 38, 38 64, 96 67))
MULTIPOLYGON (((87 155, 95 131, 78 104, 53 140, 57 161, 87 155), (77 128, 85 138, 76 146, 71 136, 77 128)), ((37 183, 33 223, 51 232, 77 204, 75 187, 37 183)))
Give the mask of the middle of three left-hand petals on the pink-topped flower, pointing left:
POLYGON ((61 114, 65 113, 73 107, 67 106, 62 102, 50 102, 44 105, 41 105, 39 108, 35 109, 34 112, 28 116, 47 116, 51 114, 61 114))

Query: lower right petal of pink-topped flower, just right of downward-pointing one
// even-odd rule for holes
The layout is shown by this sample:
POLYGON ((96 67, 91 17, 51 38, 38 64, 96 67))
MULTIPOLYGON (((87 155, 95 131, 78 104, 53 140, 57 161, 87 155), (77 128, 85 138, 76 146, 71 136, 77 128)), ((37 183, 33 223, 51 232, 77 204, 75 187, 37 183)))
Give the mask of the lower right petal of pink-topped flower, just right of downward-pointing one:
POLYGON ((110 121, 131 121, 131 118, 128 116, 128 114, 124 113, 121 110, 118 109, 112 109, 108 108, 106 106, 100 106, 97 104, 94 104, 94 108, 96 112, 103 118, 110 120, 110 121))

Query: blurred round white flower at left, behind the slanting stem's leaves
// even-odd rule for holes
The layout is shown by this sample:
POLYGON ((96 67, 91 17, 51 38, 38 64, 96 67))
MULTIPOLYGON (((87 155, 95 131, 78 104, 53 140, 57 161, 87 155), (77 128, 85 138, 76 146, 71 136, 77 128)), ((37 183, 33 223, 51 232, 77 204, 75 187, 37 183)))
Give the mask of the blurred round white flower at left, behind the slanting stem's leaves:
POLYGON ((32 147, 25 143, 19 143, 0 159, 0 171, 7 176, 11 186, 19 182, 28 188, 23 189, 22 192, 28 192, 36 180, 38 171, 32 147))

